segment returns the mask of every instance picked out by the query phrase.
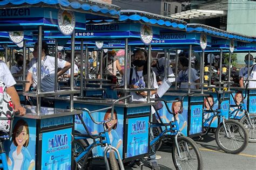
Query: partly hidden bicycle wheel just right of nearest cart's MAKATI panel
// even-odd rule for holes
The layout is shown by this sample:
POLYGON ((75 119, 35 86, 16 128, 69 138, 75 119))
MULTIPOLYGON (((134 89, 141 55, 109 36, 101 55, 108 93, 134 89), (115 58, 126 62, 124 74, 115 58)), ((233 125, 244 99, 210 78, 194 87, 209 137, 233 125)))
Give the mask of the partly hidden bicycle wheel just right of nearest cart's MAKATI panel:
MULTIPOLYGON (((74 143, 74 162, 75 162, 74 167, 75 167, 75 169, 84 169, 84 168, 82 168, 82 165, 83 165, 86 155, 77 162, 75 160, 80 153, 85 151, 87 144, 83 139, 79 139, 79 140, 75 139, 73 141, 73 143, 74 143)), ((87 153, 87 154, 89 154, 89 157, 85 163, 86 164, 85 169, 89 170, 89 169, 92 169, 92 152, 87 153)))

